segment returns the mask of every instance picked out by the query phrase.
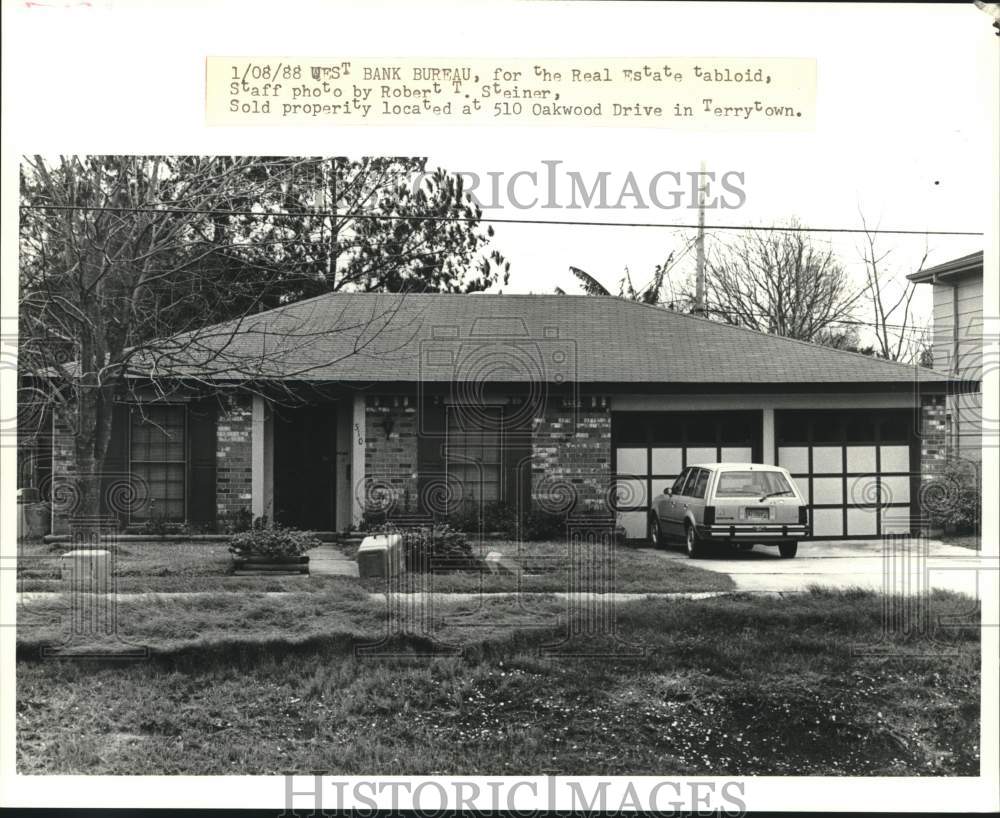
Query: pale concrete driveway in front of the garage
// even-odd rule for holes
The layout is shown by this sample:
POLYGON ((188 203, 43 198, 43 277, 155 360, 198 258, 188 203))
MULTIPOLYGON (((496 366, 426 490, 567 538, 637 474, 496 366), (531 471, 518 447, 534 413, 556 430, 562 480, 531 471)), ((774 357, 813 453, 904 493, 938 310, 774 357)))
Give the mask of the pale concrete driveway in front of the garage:
POLYGON ((934 540, 896 542, 889 548, 881 540, 802 542, 790 560, 781 559, 777 548, 760 545, 748 553, 720 550, 699 560, 689 560, 679 548, 653 553, 667 563, 690 562, 728 574, 747 591, 804 591, 818 585, 917 594, 940 588, 978 597, 977 569, 997 569, 995 557, 934 540))

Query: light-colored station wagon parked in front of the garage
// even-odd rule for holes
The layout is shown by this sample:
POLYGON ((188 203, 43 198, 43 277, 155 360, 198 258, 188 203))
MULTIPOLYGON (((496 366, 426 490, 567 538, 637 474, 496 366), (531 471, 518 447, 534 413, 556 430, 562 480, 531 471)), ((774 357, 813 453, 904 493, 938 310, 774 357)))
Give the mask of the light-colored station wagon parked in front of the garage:
POLYGON ((785 469, 760 463, 688 466, 649 512, 650 542, 683 541, 689 557, 720 543, 747 551, 776 545, 791 558, 807 536, 808 509, 795 481, 785 469))

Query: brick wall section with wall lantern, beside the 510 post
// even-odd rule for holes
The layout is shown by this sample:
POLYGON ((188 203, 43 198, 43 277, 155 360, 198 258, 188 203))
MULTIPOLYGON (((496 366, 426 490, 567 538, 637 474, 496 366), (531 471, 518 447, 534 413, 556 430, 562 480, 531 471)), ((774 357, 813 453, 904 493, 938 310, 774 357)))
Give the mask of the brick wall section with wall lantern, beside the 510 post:
POLYGON ((417 410, 413 398, 365 398, 364 507, 409 514, 417 510, 417 410))

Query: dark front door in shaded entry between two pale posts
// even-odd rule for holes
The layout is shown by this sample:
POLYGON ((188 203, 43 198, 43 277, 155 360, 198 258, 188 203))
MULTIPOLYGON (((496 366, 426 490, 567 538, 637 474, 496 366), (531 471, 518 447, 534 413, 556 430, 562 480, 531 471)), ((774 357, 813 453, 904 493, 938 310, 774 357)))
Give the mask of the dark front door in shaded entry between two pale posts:
POLYGON ((279 408, 274 417, 274 520, 310 531, 337 527, 337 414, 279 408))

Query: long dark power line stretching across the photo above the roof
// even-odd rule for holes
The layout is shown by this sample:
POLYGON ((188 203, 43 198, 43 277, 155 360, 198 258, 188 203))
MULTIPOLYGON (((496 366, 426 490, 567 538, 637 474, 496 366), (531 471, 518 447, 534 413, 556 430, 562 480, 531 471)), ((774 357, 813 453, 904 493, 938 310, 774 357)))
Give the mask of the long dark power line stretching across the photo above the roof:
MULTIPOLYGON (((183 207, 108 207, 105 205, 40 205, 22 204, 21 210, 87 210, 102 211, 108 213, 173 213, 196 216, 253 216, 257 218, 300 218, 328 216, 330 218, 351 218, 367 219, 371 221, 384 219, 388 221, 433 221, 433 222, 464 222, 478 223, 488 222, 491 224, 528 224, 528 225, 553 225, 559 227, 643 227, 675 230, 697 230, 698 224, 664 224, 662 222, 601 222, 601 221, 572 221, 570 219, 513 219, 500 216, 434 216, 418 214, 374 214, 374 213, 341 213, 336 210, 301 210, 286 211, 281 213, 262 213, 256 210, 217 210, 183 207)), ((895 236, 982 236, 982 231, 974 230, 903 230, 863 227, 802 227, 800 225, 775 225, 762 227, 753 224, 706 224, 705 229, 709 230, 748 230, 777 233, 845 233, 845 234, 869 234, 869 235, 895 235, 895 236)))

